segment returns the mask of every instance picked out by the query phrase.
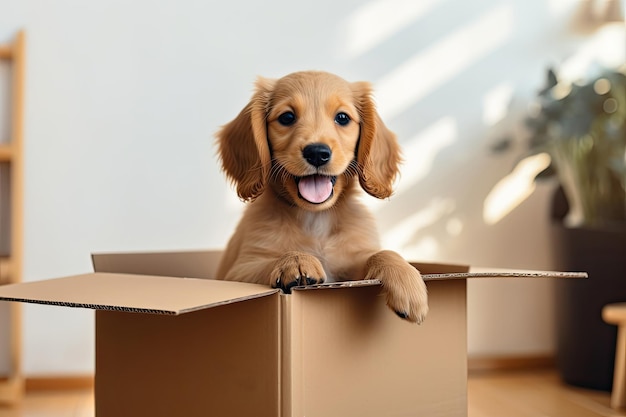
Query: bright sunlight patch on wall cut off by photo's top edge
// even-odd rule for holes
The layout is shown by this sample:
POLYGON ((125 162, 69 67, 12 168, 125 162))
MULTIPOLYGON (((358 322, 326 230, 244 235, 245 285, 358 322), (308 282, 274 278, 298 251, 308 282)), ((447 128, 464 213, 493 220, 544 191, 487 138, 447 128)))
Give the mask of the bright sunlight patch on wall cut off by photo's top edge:
POLYGON ((441 1, 376 0, 366 3, 346 20, 346 58, 354 59, 375 48, 441 1))

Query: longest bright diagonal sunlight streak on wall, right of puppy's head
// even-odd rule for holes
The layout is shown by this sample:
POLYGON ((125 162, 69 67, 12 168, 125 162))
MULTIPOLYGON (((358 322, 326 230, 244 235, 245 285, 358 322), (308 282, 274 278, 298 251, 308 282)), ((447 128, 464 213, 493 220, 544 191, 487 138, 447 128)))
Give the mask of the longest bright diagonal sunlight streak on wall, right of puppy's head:
POLYGON ((381 116, 398 116, 473 63, 504 45, 514 28, 511 5, 502 5, 416 54, 376 83, 381 116))

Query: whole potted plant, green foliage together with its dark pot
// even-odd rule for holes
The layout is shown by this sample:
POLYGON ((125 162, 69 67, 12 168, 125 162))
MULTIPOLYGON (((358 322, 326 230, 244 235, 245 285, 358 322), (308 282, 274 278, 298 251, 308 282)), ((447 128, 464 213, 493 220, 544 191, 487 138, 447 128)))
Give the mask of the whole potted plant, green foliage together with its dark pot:
POLYGON ((610 390, 616 330, 601 309, 626 301, 626 65, 575 83, 549 70, 537 99, 526 120, 529 153, 550 156, 538 177, 559 184, 558 267, 590 276, 557 282, 557 365, 565 382, 610 390))

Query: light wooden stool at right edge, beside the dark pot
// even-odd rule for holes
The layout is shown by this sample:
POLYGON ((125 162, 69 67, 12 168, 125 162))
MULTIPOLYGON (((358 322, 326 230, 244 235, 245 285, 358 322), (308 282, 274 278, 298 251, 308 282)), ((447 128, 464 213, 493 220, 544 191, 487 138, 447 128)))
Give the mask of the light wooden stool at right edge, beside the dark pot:
POLYGON ((614 303, 604 306, 602 318, 617 325, 617 347, 615 350, 615 371, 611 407, 626 408, 626 303, 614 303))

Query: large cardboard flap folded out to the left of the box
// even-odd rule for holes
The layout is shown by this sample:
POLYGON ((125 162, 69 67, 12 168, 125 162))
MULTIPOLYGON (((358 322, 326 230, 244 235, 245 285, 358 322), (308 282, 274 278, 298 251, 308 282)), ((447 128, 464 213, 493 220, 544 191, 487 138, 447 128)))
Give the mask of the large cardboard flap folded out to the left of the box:
POLYGON ((92 273, 0 286, 0 300, 176 315, 278 291, 231 281, 92 273))

